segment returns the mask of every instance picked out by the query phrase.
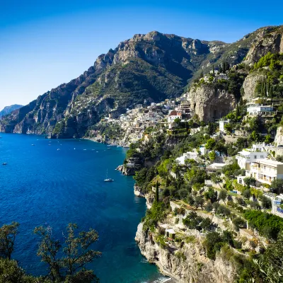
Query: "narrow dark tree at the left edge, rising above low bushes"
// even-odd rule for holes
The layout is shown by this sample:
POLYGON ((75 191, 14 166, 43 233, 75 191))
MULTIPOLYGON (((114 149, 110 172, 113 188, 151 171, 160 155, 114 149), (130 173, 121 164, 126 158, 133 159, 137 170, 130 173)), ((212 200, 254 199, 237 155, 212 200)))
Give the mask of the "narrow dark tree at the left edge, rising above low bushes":
POLYGON ((18 222, 12 222, 9 225, 3 225, 0 228, 0 256, 11 260, 16 235, 18 233, 18 222))

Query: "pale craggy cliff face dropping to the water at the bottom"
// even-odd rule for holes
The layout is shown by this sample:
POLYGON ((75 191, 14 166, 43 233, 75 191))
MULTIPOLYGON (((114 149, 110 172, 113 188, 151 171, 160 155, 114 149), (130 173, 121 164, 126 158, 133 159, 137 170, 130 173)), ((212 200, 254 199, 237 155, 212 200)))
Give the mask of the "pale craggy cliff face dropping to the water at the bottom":
POLYGON ((178 280, 180 283, 232 283, 236 270, 220 256, 215 261, 205 256, 202 248, 200 233, 195 233, 195 243, 185 243, 182 247, 170 246, 161 248, 154 241, 151 233, 143 231, 143 224, 139 224, 136 241, 142 255, 149 262, 156 264, 164 275, 178 280), (185 257, 180 257, 178 254, 185 257))

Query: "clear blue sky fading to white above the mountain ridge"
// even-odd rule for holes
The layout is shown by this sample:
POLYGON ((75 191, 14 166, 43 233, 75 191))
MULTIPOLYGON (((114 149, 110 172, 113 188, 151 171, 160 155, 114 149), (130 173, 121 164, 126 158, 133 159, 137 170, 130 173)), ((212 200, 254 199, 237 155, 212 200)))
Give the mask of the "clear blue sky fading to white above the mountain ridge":
POLYGON ((283 1, 1 0, 0 110, 75 79, 98 55, 158 30, 234 42, 283 24, 283 1))

